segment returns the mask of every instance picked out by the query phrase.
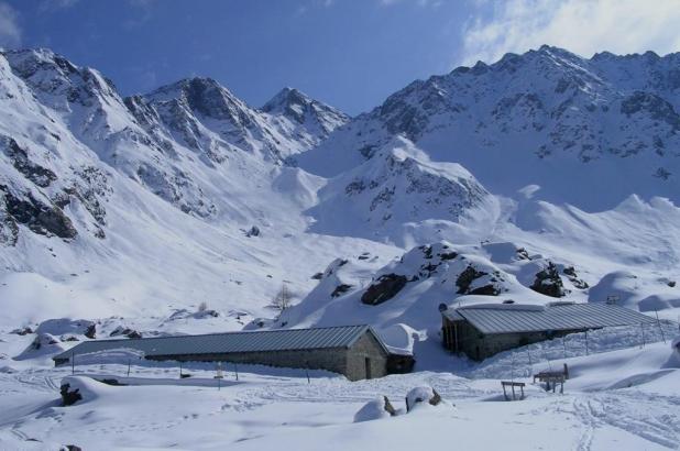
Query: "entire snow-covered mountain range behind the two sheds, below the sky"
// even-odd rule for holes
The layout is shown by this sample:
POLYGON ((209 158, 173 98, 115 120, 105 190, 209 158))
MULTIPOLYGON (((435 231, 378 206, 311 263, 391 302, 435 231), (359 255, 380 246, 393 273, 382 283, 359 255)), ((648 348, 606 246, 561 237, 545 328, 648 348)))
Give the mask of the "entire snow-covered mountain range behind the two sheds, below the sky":
MULTIPOLYGON (((530 286, 555 263, 563 286, 579 286, 569 299, 616 292, 671 311, 677 73, 677 55, 583 59, 541 47, 416 81, 350 119, 290 88, 253 108, 209 78, 122 98, 51 51, 4 51, 7 320, 122 315, 107 324, 239 329, 276 317, 267 305, 285 283, 299 302, 289 326, 390 326, 357 305, 386 274, 432 299, 489 290, 483 277, 470 293, 443 282, 468 271, 459 260, 442 263, 437 289, 390 263, 437 243, 480 263, 474 274, 496 278, 498 293, 549 301, 530 286), (650 174, 655 165, 669 174, 650 174), (507 262, 498 246, 534 257, 507 262), (191 314, 201 301, 218 319, 191 314)), ((404 322, 425 309, 413 324, 436 328, 437 311, 408 299, 380 308, 404 322)))

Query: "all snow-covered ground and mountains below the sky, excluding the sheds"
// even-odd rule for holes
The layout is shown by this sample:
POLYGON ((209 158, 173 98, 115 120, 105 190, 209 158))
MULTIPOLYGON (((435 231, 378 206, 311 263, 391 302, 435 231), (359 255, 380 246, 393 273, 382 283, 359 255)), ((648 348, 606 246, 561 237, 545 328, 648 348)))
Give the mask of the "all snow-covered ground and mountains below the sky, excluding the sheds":
POLYGON ((0 449, 678 449, 679 111, 680 54, 542 46, 351 118, 294 88, 256 108, 204 77, 122 97, 50 50, 2 51, 0 449), (564 301, 658 327, 481 363, 441 345, 442 304, 564 301), (51 360, 87 340, 363 323, 414 372, 51 360), (530 384, 563 363, 563 395, 530 384), (504 402, 501 380, 527 398, 504 402), (418 386, 442 403, 407 413, 418 386))

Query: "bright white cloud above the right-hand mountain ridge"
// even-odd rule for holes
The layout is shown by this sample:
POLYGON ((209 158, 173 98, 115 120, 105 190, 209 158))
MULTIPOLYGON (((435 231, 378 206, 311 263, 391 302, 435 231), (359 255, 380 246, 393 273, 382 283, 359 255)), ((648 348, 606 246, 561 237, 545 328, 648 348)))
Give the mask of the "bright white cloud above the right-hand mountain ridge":
MULTIPOLYGON (((481 11, 489 4, 478 7, 481 11)), ((542 44, 588 57, 602 51, 680 51, 678 0, 507 0, 491 8, 490 16, 480 12, 464 29, 459 63, 492 63, 507 52, 542 44)))

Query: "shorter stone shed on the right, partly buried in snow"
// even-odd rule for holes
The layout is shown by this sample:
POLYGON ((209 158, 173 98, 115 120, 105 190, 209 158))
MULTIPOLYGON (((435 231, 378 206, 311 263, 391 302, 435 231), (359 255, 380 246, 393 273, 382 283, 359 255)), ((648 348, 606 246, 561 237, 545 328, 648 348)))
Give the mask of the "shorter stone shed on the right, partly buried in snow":
POLYGON ((549 306, 483 304, 442 308, 441 317, 445 348, 463 352, 476 361, 569 333, 656 323, 652 318, 637 311, 594 302, 549 306))

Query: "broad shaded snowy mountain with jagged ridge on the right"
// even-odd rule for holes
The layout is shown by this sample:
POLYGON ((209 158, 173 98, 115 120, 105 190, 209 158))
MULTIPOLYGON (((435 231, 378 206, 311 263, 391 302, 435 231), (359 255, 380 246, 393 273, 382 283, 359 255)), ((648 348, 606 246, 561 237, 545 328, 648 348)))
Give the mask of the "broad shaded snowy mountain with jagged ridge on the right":
POLYGON ((414 81, 297 160, 334 176, 402 134, 496 194, 536 185, 547 200, 591 210, 630 194, 677 201, 679 74, 680 54, 507 54, 414 81))

